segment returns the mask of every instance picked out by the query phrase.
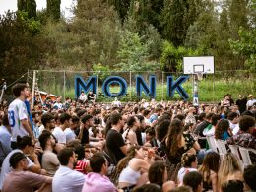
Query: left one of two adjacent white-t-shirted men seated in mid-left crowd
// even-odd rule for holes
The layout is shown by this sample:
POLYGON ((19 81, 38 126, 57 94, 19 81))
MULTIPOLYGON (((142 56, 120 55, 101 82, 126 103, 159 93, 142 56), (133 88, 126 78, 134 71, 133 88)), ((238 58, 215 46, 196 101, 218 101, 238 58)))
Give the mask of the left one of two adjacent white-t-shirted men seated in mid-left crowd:
POLYGON ((66 134, 65 129, 68 128, 71 124, 71 116, 67 113, 62 113, 59 117, 60 126, 55 127, 52 134, 57 139, 58 143, 66 144, 66 134))

